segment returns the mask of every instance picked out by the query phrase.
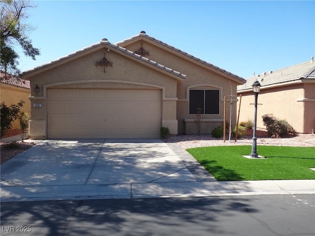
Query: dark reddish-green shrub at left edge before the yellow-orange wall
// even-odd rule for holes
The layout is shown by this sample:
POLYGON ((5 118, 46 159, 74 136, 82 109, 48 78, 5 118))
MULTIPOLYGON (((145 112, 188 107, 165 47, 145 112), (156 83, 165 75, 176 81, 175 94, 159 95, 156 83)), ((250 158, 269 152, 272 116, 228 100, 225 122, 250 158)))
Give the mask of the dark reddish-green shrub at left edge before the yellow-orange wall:
POLYGON ((17 105, 12 104, 9 107, 4 102, 0 105, 1 113, 1 134, 2 137, 6 131, 12 128, 12 121, 19 118, 20 108, 23 107, 25 101, 21 100, 17 105))

